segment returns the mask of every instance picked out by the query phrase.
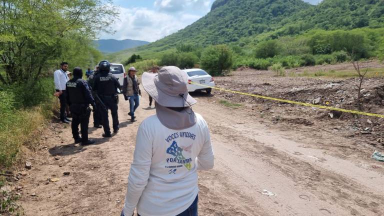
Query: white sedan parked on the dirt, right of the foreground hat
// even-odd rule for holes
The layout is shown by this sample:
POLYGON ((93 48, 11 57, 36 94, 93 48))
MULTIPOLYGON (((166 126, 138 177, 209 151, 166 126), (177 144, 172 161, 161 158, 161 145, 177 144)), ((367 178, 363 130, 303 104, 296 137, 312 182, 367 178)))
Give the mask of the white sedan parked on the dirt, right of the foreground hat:
POLYGON ((209 75, 205 70, 200 68, 183 69, 188 75, 188 91, 201 91, 205 90, 208 94, 212 91, 211 87, 214 87, 213 77, 209 75), (193 84, 191 82, 197 83, 193 84), (198 85, 201 84, 201 85, 198 85))

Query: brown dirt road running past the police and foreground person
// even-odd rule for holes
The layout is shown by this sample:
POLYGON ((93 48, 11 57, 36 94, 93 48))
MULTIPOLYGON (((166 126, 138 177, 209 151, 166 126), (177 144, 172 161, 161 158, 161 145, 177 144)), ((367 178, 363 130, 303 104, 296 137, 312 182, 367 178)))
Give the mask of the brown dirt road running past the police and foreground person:
MULTIPOLYGON (((369 146, 340 156, 335 152, 355 142, 313 126, 276 127, 214 97, 193 96, 215 153, 214 169, 199 173, 200 215, 384 214, 384 163, 369 159, 369 146)), ((119 215, 135 132, 155 113, 146 108, 146 95, 140 102, 138 121, 131 123, 128 102, 120 100, 120 131, 107 139, 91 128, 96 144, 86 147, 72 144, 69 126, 53 123, 20 180, 26 215, 119 215)))

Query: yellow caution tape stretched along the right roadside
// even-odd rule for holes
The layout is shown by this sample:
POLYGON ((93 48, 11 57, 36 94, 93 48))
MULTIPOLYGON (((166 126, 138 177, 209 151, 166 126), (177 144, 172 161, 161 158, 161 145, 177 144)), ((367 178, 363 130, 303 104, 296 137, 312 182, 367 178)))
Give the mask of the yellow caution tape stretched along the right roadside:
POLYGON ((231 93, 237 93, 237 94, 242 94, 242 95, 247 95, 247 96, 252 96, 252 97, 268 99, 268 100, 275 100, 275 101, 298 104, 298 105, 303 105, 303 106, 310 106, 310 107, 316 107, 316 108, 322 108, 322 109, 328 109, 328 110, 336 110, 336 111, 349 112, 349 113, 354 113, 354 114, 361 114, 361 115, 368 115, 368 116, 384 118, 384 115, 382 115, 382 114, 362 112, 362 111, 349 110, 349 109, 342 109, 342 108, 336 108, 336 107, 331 107, 331 106, 316 105, 316 104, 311 104, 311 103, 304 103, 304 102, 298 102, 298 101, 293 101, 293 100, 286 100, 286 99, 262 96, 262 95, 257 95, 257 94, 251 94, 251 93, 244 93, 244 92, 240 92, 240 91, 227 90, 224 88, 211 87, 208 85, 204 85, 204 84, 200 84, 200 83, 196 83, 196 82, 192 82, 192 81, 190 81, 189 83, 204 86, 204 87, 209 87, 209 88, 213 88, 213 89, 217 89, 217 90, 227 91, 227 92, 231 92, 231 93))

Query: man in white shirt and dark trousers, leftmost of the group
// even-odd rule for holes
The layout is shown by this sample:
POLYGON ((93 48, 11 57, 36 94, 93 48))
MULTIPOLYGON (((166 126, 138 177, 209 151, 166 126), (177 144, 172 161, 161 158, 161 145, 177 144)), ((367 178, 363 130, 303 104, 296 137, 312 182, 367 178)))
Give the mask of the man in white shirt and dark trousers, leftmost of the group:
POLYGON ((68 70, 68 63, 61 62, 60 69, 54 71, 53 73, 54 86, 56 88, 56 92, 58 92, 58 99, 60 100, 60 121, 63 123, 70 123, 70 120, 66 118, 66 115, 65 115, 65 108, 66 108, 65 84, 69 80, 69 77, 66 74, 67 70, 68 70))

